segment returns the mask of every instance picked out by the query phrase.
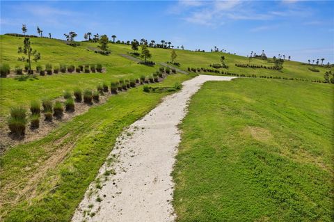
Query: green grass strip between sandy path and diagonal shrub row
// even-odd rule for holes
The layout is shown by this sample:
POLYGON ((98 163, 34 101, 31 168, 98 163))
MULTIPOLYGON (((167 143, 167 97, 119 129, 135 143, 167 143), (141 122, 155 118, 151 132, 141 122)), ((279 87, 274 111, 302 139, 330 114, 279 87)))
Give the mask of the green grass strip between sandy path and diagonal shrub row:
MULTIPOLYGON (((189 78, 174 74, 154 86, 173 86, 189 78)), ((143 93, 143 86, 131 88, 45 138, 6 151, 0 169, 3 221, 70 221, 118 134, 165 95, 143 93), (22 189, 26 193, 20 196, 22 189)))

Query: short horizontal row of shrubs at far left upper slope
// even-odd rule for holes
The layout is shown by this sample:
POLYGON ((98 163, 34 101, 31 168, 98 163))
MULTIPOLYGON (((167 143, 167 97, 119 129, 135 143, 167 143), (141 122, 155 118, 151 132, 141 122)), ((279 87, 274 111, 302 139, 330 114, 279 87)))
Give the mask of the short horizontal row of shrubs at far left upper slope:
MULTIPOLYGON (((90 73, 90 72, 102 72, 103 67, 102 64, 92 64, 92 65, 77 65, 75 67, 74 65, 65 65, 60 64, 59 66, 52 67, 50 63, 47 63, 45 65, 45 68, 42 67, 42 65, 36 65, 35 70, 29 70, 29 65, 24 65, 24 69, 21 68, 19 65, 15 66, 15 74, 24 74, 24 72, 33 74, 34 72, 40 74, 41 76, 44 76, 45 74, 51 75, 52 73, 57 74, 59 72, 65 73, 65 72, 84 72, 84 73, 90 73)), ((1 64, 0 67, 0 74, 1 77, 7 77, 8 74, 10 74, 10 66, 8 64, 1 64)))

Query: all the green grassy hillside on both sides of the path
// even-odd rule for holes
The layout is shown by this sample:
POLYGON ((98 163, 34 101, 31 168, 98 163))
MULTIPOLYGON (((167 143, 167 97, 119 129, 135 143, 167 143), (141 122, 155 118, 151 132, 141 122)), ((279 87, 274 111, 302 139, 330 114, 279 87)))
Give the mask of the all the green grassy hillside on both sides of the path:
MULTIPOLYGON (((23 38, 0 35, 0 41, 1 63, 23 67, 17 61, 23 38)), ((61 97, 75 86, 93 89, 114 79, 138 78, 170 61, 170 49, 150 48, 157 63, 150 67, 120 56, 132 51, 127 45, 109 44, 111 54, 102 56, 94 52, 93 42, 78 47, 47 38, 31 42, 42 56, 35 65, 102 63, 106 72, 0 79, 0 127, 7 127, 10 106, 61 97)), ((322 80, 330 70, 317 67, 320 72, 312 72, 309 65, 294 61, 285 61, 282 70, 238 68, 234 63, 273 63, 221 52, 176 52, 182 70, 210 68, 222 55, 228 71, 239 74, 322 80)), ((194 76, 169 75, 158 86, 194 76)), ((278 79, 205 84, 182 124, 173 174, 180 221, 333 220, 333 90, 333 84, 278 79)), ((123 127, 168 94, 132 88, 63 122, 44 138, 8 149, 0 168, 3 221, 69 221, 123 127)))

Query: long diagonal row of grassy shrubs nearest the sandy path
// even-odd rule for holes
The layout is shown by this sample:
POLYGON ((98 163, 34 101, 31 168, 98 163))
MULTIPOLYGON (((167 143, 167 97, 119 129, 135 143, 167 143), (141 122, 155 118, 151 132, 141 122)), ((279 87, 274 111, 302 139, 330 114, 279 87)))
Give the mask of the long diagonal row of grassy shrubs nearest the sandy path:
MULTIPOLYGON (((75 108, 75 102, 82 102, 86 104, 93 104, 94 102, 100 101, 100 95, 104 95, 104 93, 117 94, 120 91, 125 91, 128 88, 136 87, 136 84, 148 84, 159 82, 159 78, 164 78, 164 73, 170 74, 175 73, 175 70, 171 70, 170 68, 159 68, 157 72, 149 76, 142 75, 138 79, 120 79, 118 81, 111 81, 110 85, 103 83, 98 84, 95 91, 86 89, 81 90, 80 88, 74 88, 73 93, 70 90, 65 90, 63 93, 63 97, 65 102, 52 102, 49 99, 42 100, 42 104, 40 101, 35 100, 31 102, 30 105, 30 121, 31 121, 31 129, 37 129, 40 126, 40 114, 44 113, 45 121, 52 121, 53 117, 62 118, 63 111, 73 112, 75 108), (42 109, 41 109, 42 108, 42 109)), ((180 84, 175 85, 175 89, 180 89, 180 84)), ((23 107, 15 107, 10 110, 10 118, 8 119, 8 127, 10 132, 15 136, 23 136, 26 130, 26 109, 23 107)))

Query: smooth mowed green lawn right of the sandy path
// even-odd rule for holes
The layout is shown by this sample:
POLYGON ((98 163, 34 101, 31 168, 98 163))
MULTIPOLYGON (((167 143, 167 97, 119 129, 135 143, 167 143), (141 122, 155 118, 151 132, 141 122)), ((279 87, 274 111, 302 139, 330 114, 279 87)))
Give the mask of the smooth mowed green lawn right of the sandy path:
POLYGON ((180 125, 177 221, 334 221, 329 84, 209 82, 180 125))

